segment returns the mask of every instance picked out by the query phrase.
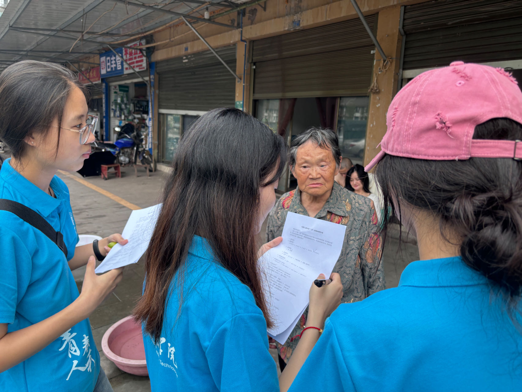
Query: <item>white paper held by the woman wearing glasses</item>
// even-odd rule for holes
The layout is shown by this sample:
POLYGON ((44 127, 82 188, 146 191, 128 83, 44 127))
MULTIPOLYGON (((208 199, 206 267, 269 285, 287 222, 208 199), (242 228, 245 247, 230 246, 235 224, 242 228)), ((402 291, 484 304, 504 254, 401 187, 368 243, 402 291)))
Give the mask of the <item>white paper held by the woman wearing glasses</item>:
POLYGON ((114 268, 137 263, 149 246, 160 210, 161 204, 143 210, 134 210, 122 232, 122 237, 128 239, 128 243, 126 245, 114 245, 94 272, 103 273, 114 268))

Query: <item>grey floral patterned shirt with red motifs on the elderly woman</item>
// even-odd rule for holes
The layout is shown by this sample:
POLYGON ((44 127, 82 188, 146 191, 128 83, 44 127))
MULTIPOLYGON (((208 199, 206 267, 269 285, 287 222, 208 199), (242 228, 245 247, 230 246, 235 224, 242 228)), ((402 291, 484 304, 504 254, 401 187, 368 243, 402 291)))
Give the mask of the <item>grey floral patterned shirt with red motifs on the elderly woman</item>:
MULTIPOLYGON (((282 234, 289 211, 309 216, 301 204, 299 188, 283 194, 270 211, 266 228, 267 241, 282 234)), ((341 275, 341 302, 361 301, 376 291, 385 289, 384 269, 379 262, 382 240, 378 235, 377 214, 372 201, 334 182, 329 199, 315 218, 346 226, 345 242, 334 267, 334 272, 341 275)), ((308 308, 290 334, 291 337, 299 335, 307 315, 308 308)), ((297 339, 293 342, 288 339, 284 345, 277 343, 279 355, 284 362, 288 363, 297 343, 297 339)))

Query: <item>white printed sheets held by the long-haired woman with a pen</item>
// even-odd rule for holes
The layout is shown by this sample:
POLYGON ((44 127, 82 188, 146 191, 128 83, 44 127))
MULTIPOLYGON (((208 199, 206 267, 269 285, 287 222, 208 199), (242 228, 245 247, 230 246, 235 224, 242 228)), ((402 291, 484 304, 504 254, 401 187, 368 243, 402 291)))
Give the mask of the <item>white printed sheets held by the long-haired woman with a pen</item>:
POLYGON ((344 225, 289 212, 281 244, 262 256, 265 292, 276 324, 268 333, 279 343, 287 340, 308 306, 310 285, 320 273, 329 278, 345 232, 344 225))

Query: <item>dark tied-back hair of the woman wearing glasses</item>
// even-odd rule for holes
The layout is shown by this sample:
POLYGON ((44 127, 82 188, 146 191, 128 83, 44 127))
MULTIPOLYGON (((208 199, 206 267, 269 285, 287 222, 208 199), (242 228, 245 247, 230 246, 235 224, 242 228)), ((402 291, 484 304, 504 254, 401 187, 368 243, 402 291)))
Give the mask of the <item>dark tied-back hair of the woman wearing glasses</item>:
POLYGON ((75 86, 87 98, 76 75, 58 64, 25 60, 5 68, 0 74, 0 139, 13 157, 23 155, 28 134, 46 134, 54 119, 59 146, 65 102, 75 86))

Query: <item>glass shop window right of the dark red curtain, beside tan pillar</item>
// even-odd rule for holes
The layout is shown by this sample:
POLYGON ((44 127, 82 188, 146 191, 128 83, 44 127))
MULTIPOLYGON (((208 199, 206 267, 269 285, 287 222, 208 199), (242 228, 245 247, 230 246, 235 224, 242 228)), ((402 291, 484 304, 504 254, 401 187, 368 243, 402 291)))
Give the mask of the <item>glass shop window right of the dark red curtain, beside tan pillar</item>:
POLYGON ((337 117, 337 134, 342 156, 353 164, 363 164, 368 121, 368 97, 341 97, 337 117))

